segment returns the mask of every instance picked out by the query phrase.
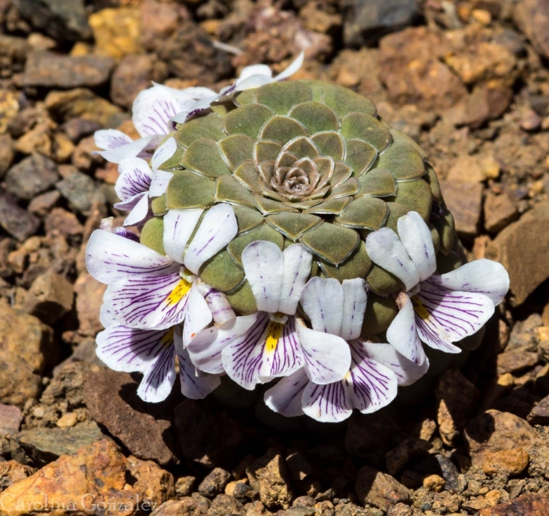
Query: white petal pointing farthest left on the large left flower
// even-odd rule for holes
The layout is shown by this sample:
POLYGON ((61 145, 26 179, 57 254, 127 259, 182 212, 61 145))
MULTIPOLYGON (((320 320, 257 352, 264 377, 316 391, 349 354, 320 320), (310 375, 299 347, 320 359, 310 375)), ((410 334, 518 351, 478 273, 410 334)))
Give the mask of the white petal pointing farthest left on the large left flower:
POLYGON ((103 229, 96 229, 89 237, 86 267, 97 281, 106 284, 134 275, 163 275, 179 271, 179 265, 167 256, 103 229))

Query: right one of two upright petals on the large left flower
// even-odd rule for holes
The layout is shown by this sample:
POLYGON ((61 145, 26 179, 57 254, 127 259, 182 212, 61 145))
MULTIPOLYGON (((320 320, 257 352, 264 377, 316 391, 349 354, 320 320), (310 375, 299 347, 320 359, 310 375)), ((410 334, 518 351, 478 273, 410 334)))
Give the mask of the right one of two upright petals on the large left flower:
POLYGON ((185 267, 198 274, 202 264, 225 248, 236 237, 238 230, 230 204, 220 203, 210 208, 185 254, 185 267))

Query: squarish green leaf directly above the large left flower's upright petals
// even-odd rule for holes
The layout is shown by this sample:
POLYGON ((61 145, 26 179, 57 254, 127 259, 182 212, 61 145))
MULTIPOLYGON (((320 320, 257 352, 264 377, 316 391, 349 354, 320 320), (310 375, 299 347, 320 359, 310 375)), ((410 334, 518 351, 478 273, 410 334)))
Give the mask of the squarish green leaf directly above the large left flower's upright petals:
POLYGON ((214 195, 213 180, 196 175, 189 170, 177 170, 168 184, 166 205, 169 210, 206 208, 213 204, 214 195))

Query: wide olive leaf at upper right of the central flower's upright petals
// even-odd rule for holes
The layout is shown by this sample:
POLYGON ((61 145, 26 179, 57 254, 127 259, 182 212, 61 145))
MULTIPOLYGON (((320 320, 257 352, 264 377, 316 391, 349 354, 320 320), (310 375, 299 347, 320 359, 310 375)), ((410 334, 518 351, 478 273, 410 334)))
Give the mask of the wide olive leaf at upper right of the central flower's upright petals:
POLYGON ((360 237, 354 229, 322 222, 301 237, 301 243, 322 260, 339 265, 360 243, 360 237))

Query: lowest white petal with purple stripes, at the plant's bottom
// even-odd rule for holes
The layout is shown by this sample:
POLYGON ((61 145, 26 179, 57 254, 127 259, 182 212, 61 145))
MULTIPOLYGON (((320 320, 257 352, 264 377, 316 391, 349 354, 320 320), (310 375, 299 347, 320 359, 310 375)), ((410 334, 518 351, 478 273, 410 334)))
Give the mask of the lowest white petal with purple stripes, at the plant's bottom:
POLYGON ((317 385, 309 382, 301 398, 303 412, 313 420, 337 423, 353 413, 353 406, 343 382, 317 385))

